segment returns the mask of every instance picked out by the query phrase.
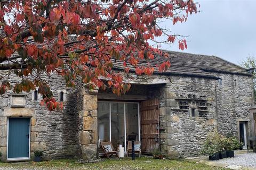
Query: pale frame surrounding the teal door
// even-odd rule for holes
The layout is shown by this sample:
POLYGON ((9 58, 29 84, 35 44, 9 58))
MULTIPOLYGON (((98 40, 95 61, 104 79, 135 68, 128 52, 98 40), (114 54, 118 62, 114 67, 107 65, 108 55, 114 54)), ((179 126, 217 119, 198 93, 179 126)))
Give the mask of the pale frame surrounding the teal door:
POLYGON ((20 161, 20 160, 30 160, 30 136, 31 136, 31 117, 7 117, 7 161, 20 161), (8 158, 8 143, 9 143, 9 118, 29 118, 29 141, 28 141, 28 157, 20 158, 8 158))

